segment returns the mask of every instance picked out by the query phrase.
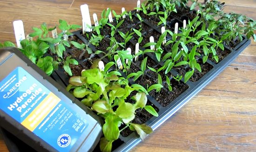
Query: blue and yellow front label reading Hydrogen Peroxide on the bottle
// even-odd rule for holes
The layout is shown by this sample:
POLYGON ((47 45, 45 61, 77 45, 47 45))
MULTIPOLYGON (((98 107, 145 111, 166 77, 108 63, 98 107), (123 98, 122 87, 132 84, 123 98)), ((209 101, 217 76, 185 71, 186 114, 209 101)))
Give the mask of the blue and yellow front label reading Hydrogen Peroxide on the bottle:
POLYGON ((22 67, 0 82, 0 109, 61 152, 69 152, 88 122, 22 67))

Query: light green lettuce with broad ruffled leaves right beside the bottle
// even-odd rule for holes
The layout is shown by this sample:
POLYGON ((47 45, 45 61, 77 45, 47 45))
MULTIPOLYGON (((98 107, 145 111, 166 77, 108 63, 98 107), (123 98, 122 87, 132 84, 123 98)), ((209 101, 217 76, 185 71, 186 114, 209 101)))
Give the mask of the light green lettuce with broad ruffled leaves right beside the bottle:
MULTIPOLYGON (((81 100, 83 104, 105 119, 102 127, 104 137, 100 141, 103 152, 111 151, 113 141, 119 137, 119 126, 122 123, 132 131, 136 131, 141 139, 152 132, 149 126, 131 123, 131 120, 135 118, 136 109, 148 109, 148 106, 146 108, 146 94, 143 92, 136 93, 132 98, 135 100, 135 104, 125 102, 128 95, 138 87, 128 86, 127 79, 118 77, 117 75, 121 76, 121 73, 117 71, 108 73, 108 69, 106 69, 108 67, 110 66, 105 66, 104 71, 99 69, 83 71, 81 76, 71 77, 70 84, 67 86, 67 91, 74 89, 73 95, 75 97, 83 98, 81 100), (113 107, 117 108, 113 109, 113 107)), ((149 109, 152 110, 152 108, 149 109)), ((156 113, 155 110, 153 113, 156 113)))

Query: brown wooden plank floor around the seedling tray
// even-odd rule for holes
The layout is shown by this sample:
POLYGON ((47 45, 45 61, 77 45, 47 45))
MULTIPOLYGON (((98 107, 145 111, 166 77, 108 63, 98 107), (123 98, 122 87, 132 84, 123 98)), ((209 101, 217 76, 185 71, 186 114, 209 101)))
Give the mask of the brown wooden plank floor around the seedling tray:
MULTIPOLYGON (((201 0, 202 1, 202 0, 201 0)), ((226 12, 256 20, 256 0, 223 0, 226 12)), ((13 20, 32 26, 58 20, 81 25, 80 5, 100 16, 110 7, 133 10, 136 0, 0 0, 0 42, 15 42, 13 20)), ((0 137, 0 152, 7 152, 0 137)), ((252 152, 256 151, 256 43, 252 41, 208 86, 168 119, 132 152, 252 152)))

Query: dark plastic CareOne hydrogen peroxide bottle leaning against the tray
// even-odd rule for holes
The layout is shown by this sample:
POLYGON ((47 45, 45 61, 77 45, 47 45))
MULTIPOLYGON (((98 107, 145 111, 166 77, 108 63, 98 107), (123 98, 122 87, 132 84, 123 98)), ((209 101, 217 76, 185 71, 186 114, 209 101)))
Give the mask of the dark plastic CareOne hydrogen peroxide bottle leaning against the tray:
POLYGON ((0 126, 39 152, 88 152, 100 121, 18 49, 0 49, 0 126))

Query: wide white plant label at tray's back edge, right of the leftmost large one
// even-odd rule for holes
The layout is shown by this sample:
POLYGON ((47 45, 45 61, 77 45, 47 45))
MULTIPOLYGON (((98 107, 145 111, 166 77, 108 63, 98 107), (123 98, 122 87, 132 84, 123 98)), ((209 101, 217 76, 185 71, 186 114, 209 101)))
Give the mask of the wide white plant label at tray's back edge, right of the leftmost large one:
POLYGON ((82 14, 82 22, 83 22, 83 33, 91 32, 91 18, 89 13, 89 8, 87 4, 81 5, 81 14, 82 14))

